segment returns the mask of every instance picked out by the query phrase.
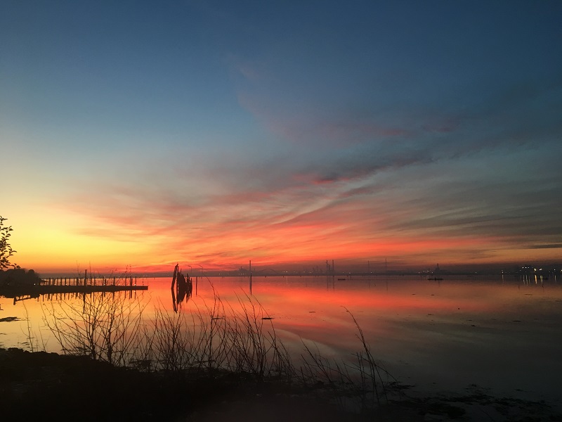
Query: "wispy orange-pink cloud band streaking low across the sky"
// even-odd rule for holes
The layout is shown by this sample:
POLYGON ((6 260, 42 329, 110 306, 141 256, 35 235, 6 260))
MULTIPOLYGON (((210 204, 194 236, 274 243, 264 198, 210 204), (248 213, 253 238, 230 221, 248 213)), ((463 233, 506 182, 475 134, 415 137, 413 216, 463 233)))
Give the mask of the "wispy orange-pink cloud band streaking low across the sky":
MULTIPOLYGON (((540 151, 528 158, 537 156, 540 151)), ((505 260, 504 250, 556 245, 562 232, 555 175, 542 169, 530 180, 521 175, 518 184, 508 181, 521 157, 524 151, 485 160, 402 158, 405 162, 365 172, 343 169, 345 177, 326 183, 292 166, 285 169, 282 162, 271 167, 276 176, 270 179, 260 163, 226 166, 214 174, 218 184, 229 179, 228 188, 198 193, 193 203, 188 191, 143 186, 100 186, 103 201, 72 202, 76 212, 89 216, 81 234, 147 241, 170 262, 183 257, 207 266, 381 256, 419 262, 435 255, 459 262, 505 260), (475 163, 488 167, 474 172, 475 163), (488 173, 497 180, 491 182, 488 173), (262 174, 264 180, 253 179, 262 174)))

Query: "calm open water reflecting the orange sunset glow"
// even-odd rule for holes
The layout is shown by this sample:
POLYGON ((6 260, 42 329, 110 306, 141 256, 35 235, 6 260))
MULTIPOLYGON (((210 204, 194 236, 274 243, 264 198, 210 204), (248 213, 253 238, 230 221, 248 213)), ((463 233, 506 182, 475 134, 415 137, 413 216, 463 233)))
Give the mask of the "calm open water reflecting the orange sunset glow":
MULTIPOLYGON (((172 309, 171 279, 145 279, 148 292, 132 293, 155 307, 172 309)), ((141 283, 141 280, 138 281, 141 283)), ((183 310, 211 301, 211 283, 224 302, 249 293, 246 278, 200 278, 197 295, 183 310)), ((355 316, 372 352, 413 391, 462 391, 471 384, 497 394, 560 399, 562 373, 562 283, 457 277, 443 281, 418 276, 370 279, 254 277, 251 293, 277 334, 296 356, 303 341, 327 357, 351 359, 360 350, 355 316)), ((66 298, 66 300, 79 300, 66 298)), ((27 347, 28 322, 39 347, 57 351, 44 326, 49 298, 13 304, 0 298, 0 345, 27 347), (27 318, 29 317, 29 318, 27 318)))

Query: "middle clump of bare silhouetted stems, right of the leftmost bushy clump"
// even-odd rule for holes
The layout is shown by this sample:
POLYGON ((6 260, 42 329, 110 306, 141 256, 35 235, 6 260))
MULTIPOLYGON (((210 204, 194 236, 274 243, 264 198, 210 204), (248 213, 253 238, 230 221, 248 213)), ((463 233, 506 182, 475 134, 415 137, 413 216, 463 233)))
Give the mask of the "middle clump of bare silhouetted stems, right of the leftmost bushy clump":
POLYGON ((153 350, 155 368, 165 371, 227 371, 263 381, 290 380, 290 357, 263 307, 249 295, 240 309, 225 306, 216 291, 211 301, 178 313, 157 309, 153 350), (265 323, 267 321, 267 324, 265 323))

